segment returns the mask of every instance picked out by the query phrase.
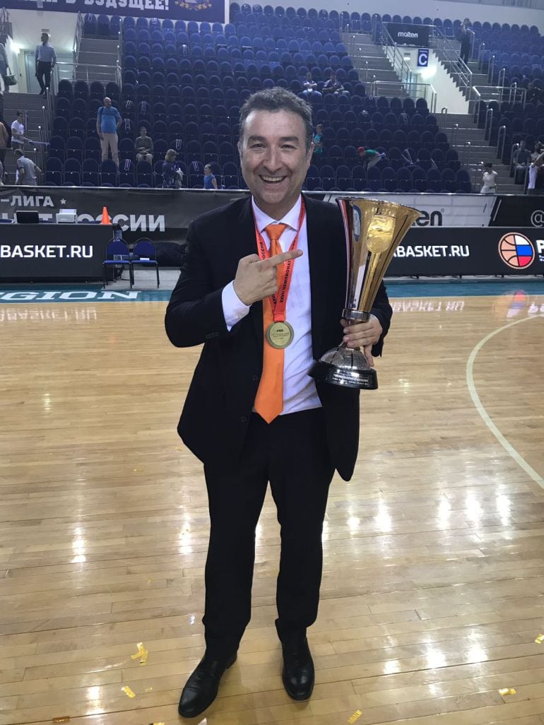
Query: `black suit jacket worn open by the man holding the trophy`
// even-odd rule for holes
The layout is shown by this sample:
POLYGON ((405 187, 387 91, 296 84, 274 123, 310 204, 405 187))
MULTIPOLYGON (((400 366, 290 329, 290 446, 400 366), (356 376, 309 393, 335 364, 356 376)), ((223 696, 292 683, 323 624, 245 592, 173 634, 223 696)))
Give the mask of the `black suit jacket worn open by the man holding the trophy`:
MULTIPOLYGON (((312 347, 318 360, 342 341, 339 320, 346 296, 346 244, 336 205, 308 197, 305 204, 312 347)), ((221 301, 223 287, 236 276, 239 260, 255 253, 250 198, 197 218, 189 226, 181 276, 166 310, 166 332, 174 345, 204 343, 178 433, 208 464, 229 465, 239 457, 263 370, 263 303, 255 302, 249 314, 228 332, 221 301)), ((383 285, 372 312, 384 330, 372 352, 381 355, 392 315, 383 285)), ((358 452, 359 392, 329 384, 316 387, 325 413, 331 460, 348 481, 358 452)))

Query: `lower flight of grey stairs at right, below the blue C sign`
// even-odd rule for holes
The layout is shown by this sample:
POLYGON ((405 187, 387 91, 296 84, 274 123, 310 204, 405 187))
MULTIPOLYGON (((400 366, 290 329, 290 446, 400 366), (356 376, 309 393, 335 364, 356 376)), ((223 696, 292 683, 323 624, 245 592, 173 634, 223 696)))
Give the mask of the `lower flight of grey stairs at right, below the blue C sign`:
POLYGON ((493 170, 498 173, 497 184, 500 194, 523 194, 523 187, 514 183, 514 179, 510 177, 509 167, 498 161, 495 147, 489 145, 484 129, 478 128, 472 114, 450 113, 440 115, 438 120, 440 130, 448 136, 451 147, 456 149, 459 154, 461 164, 464 166, 468 160, 466 170, 469 172, 473 186, 477 169, 479 169, 477 185, 474 186, 475 191, 478 191, 481 185, 482 162, 490 161, 493 163, 493 170), (454 129, 456 124, 458 128, 454 129), (470 143, 470 146, 466 146, 467 143, 470 143))

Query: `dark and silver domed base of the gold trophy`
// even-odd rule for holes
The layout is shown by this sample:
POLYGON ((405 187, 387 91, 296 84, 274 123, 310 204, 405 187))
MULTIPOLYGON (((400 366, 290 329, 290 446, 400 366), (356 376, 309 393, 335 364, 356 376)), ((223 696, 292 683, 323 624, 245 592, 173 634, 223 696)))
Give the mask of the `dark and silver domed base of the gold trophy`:
POLYGON ((340 345, 326 352, 310 368, 308 375, 314 380, 344 388, 376 390, 378 375, 368 365, 366 357, 358 349, 340 345))

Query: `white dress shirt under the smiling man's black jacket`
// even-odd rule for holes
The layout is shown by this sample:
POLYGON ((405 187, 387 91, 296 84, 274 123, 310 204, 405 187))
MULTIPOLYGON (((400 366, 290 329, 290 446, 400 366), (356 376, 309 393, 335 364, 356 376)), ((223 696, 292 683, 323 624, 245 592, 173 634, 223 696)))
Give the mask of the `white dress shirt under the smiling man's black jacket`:
MULTIPOLYGON (((297 234, 301 199, 302 197, 299 196, 294 207, 281 219, 272 219, 269 217, 257 207, 255 200, 252 199, 255 223, 263 235, 263 239, 267 242, 268 247, 270 247, 270 239, 268 239, 268 234, 265 232, 265 227, 268 224, 287 224, 287 228, 279 239, 281 251, 287 252, 287 249, 289 249, 297 234)), ((321 407, 321 401, 316 391, 316 384, 313 378, 308 376, 308 370, 313 363, 313 353, 310 265, 308 260, 306 216, 302 221, 297 249, 302 250, 302 257, 297 257, 294 260, 291 286, 289 287, 289 296, 287 297, 286 320, 294 330, 294 339, 284 349, 284 410, 281 412, 281 415, 321 407)), ((255 240, 255 254, 257 254, 257 240, 255 240)), ((244 305, 236 295, 234 281, 228 283, 223 289, 222 302, 226 326, 230 331, 239 320, 242 320, 247 315, 250 307, 244 305)), ((340 339, 340 327, 338 335, 340 339)), ((265 342, 265 344, 267 343, 265 342)))

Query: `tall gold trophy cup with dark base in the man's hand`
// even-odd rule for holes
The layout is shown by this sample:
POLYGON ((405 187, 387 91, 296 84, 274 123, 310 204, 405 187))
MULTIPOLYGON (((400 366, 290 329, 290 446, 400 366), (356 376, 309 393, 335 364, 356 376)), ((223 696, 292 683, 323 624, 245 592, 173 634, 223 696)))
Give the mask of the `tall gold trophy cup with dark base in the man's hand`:
MULTIPOLYGON (((367 322, 395 249, 421 212, 376 199, 342 197, 337 204, 344 219, 347 244, 347 295, 342 317, 349 323, 367 322)), ((313 363, 310 376, 347 388, 378 387, 376 370, 368 365, 363 351, 344 343, 313 363)))

